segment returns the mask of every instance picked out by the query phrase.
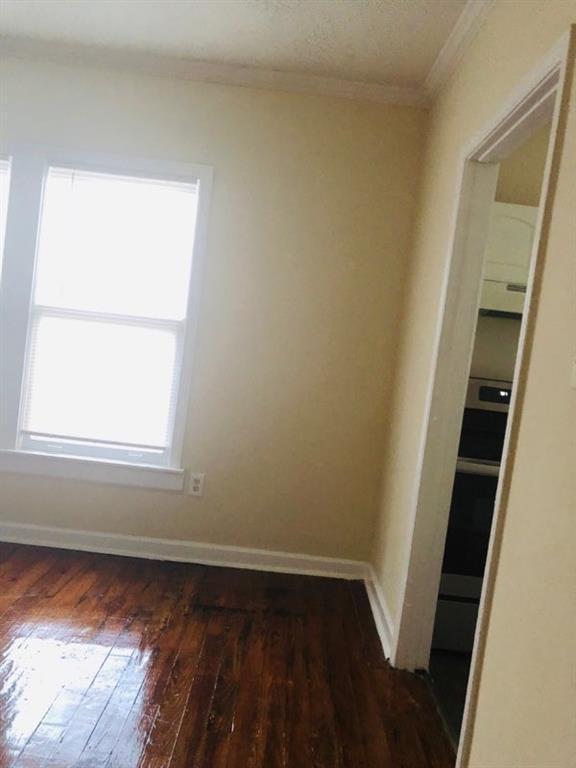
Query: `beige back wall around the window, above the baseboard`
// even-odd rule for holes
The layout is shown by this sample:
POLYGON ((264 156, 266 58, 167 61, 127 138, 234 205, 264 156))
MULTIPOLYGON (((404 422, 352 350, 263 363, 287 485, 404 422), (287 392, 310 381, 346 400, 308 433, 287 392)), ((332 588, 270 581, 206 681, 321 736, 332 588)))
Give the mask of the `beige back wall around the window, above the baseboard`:
POLYGON ((185 494, 2 476, 0 518, 365 559, 426 112, 6 61, 4 139, 214 166, 185 494))

